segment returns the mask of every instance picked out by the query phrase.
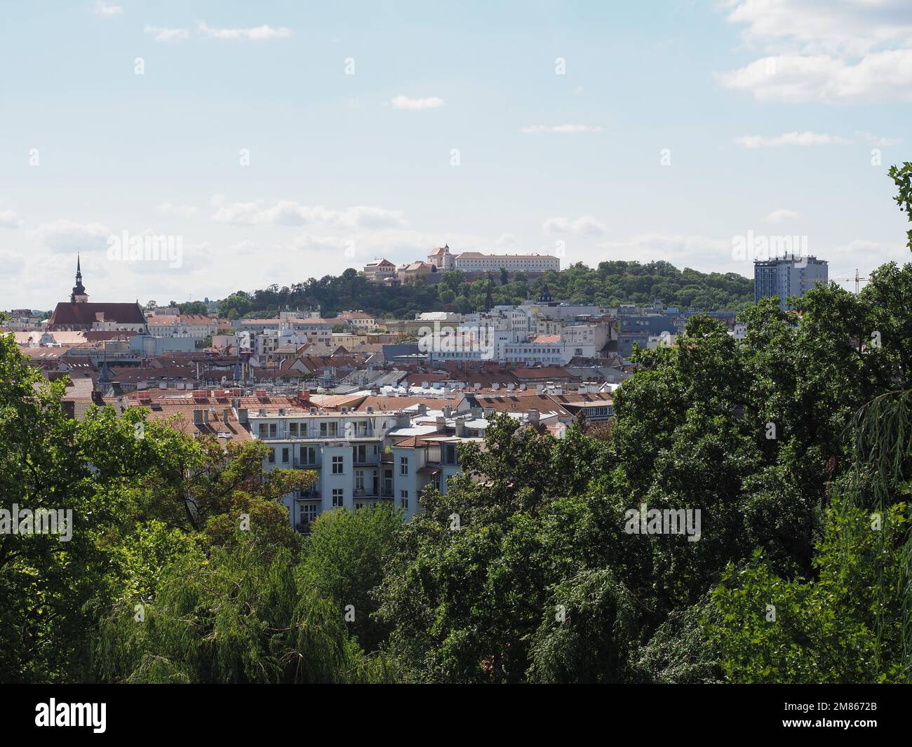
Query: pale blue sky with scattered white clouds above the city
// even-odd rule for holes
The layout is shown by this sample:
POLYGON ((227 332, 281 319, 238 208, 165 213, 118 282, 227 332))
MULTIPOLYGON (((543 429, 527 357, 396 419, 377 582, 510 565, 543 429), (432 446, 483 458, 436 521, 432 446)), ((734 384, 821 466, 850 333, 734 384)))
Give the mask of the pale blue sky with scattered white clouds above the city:
POLYGON ((4 16, 0 308, 64 299, 77 249, 90 300, 142 303, 444 243, 752 275, 731 252, 752 232, 806 236, 831 276, 907 260, 886 177, 910 160, 907 2, 86 0, 4 16), (181 266, 112 262, 124 231, 179 237, 181 266))

